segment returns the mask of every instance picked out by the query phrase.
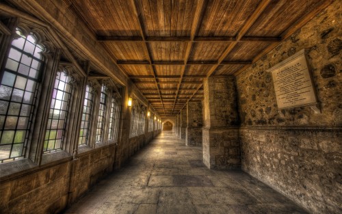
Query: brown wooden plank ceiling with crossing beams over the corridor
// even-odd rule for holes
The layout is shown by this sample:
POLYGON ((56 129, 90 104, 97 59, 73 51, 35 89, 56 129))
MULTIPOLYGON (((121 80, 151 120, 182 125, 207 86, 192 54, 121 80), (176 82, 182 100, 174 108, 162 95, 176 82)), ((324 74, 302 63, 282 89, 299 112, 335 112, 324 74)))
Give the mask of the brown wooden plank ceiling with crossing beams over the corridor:
POLYGON ((162 116, 201 101, 202 80, 237 75, 331 0, 77 0, 71 8, 162 116))

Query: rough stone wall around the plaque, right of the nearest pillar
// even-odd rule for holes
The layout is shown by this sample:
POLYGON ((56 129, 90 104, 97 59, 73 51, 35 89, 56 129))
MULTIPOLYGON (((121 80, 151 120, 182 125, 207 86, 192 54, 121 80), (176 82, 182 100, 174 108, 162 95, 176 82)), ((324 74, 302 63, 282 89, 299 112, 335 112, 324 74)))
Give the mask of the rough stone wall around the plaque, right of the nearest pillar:
POLYGON ((341 1, 334 1, 237 77, 243 170, 312 213, 342 213, 341 31, 341 1), (322 113, 277 110, 265 70, 301 49, 322 113))

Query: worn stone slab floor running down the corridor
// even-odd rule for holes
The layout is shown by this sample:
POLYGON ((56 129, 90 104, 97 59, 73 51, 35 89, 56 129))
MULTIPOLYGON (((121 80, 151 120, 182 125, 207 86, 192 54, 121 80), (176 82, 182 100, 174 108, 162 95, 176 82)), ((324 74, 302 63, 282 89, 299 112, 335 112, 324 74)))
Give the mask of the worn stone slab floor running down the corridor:
POLYGON ((163 132, 66 213, 306 213, 244 172, 208 170, 201 148, 163 132))

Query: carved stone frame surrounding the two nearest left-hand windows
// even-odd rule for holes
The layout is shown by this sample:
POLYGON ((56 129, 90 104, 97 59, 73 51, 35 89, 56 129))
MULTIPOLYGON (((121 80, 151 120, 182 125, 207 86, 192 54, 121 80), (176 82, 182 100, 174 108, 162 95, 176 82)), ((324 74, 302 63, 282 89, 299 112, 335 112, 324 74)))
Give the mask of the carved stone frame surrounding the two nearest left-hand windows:
MULTIPOLYGON (((9 17, 10 18, 10 17, 9 17)), ((14 172, 21 172, 29 169, 34 165, 42 165, 51 163, 52 161, 70 158, 77 148, 78 136, 73 134, 77 130, 77 113, 71 113, 70 109, 81 109, 81 105, 77 102, 77 99, 81 96, 80 88, 85 86, 84 80, 87 78, 86 72, 77 64, 73 55, 64 48, 63 42, 57 38, 52 29, 47 25, 40 22, 27 21, 25 18, 10 18, 10 21, 6 25, 2 25, 0 29, 0 63, 1 63, 1 77, 3 74, 3 67, 5 66, 5 60, 8 57, 10 48, 12 46, 12 39, 16 35, 15 29, 19 27, 25 32, 25 35, 34 34, 37 38, 37 43, 44 46, 45 50, 42 53, 44 57, 44 66, 42 68, 41 82, 38 86, 39 93, 37 95, 36 107, 34 109, 34 121, 31 123, 29 133, 29 144, 23 159, 17 161, 9 161, 7 163, 1 163, 1 172, 6 170, 4 176, 10 175, 14 172), (4 28, 3 26, 7 27, 4 28), (7 29, 4 31, 3 29, 7 29), (10 32, 10 34, 8 34, 10 32), (63 50, 63 51, 62 51, 63 50), (64 55, 64 59, 68 62, 61 61, 61 55, 64 55), (53 83, 57 75, 57 70, 60 67, 68 67, 68 75, 73 78, 73 98, 70 98, 70 105, 68 107, 68 113, 70 117, 67 119, 65 129, 66 143, 62 146, 62 150, 58 152, 51 152, 44 154, 44 135, 47 129, 47 120, 51 105, 53 83), (21 165, 21 167, 19 167, 21 165)), ((80 124, 80 123, 79 123, 80 124)))

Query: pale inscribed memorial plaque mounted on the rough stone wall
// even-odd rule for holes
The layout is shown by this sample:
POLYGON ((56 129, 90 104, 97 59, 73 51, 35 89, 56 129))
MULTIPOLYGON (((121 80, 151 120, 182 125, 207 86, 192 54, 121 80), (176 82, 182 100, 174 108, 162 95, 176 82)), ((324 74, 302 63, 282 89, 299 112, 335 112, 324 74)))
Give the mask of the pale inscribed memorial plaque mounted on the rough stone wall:
POLYGON ((269 68, 267 72, 272 73, 279 109, 317 104, 304 49, 269 68))

